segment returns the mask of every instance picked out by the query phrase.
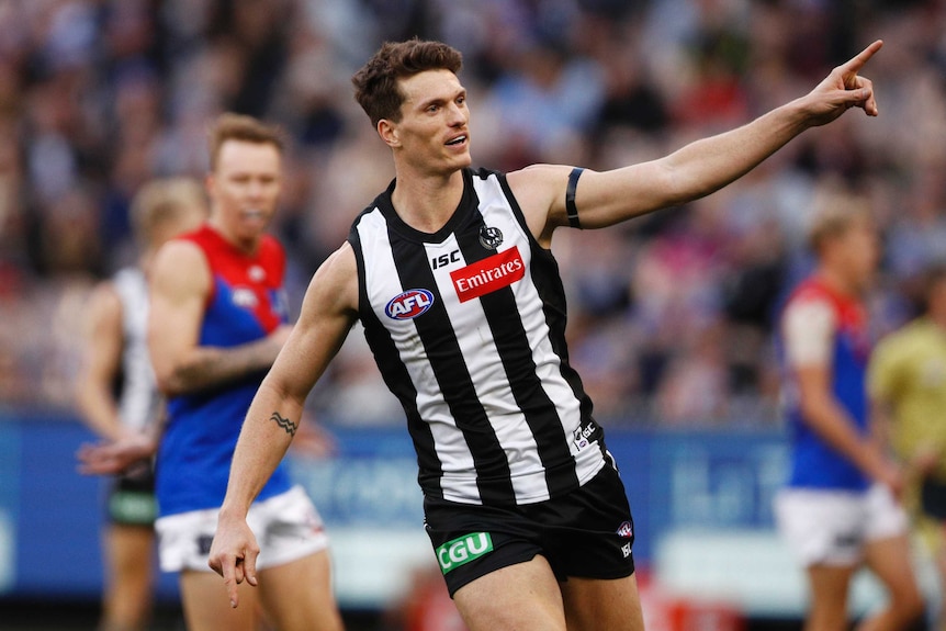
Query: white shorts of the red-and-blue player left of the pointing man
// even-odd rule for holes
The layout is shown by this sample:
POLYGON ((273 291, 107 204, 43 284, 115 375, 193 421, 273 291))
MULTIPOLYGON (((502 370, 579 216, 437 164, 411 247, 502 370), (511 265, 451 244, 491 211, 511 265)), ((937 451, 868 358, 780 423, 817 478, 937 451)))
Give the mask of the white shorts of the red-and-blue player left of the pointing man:
MULTIPOLYGON (((169 515, 155 522, 164 572, 213 572, 207 562, 218 514, 218 508, 209 508, 169 515)), ((258 570, 290 563, 328 547, 322 517, 301 486, 255 502, 247 523, 260 548, 258 570)))

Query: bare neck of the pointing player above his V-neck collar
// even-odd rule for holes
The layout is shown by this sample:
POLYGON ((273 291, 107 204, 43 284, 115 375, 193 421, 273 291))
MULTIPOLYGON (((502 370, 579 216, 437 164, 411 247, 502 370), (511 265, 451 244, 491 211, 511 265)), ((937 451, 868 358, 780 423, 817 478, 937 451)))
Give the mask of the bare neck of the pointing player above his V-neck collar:
POLYGON ((415 176, 396 171, 391 203, 401 219, 416 230, 436 233, 447 224, 463 196, 463 172, 415 176))

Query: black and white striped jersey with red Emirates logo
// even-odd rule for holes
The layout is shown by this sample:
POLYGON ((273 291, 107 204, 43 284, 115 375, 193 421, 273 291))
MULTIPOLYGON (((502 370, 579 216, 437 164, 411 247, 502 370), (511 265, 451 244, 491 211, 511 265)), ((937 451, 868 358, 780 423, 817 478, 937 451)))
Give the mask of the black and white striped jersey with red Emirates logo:
POLYGON ((568 364, 565 295, 502 173, 464 170, 436 234, 406 225, 394 182, 352 225, 359 312, 407 414, 425 495, 530 504, 589 481, 604 432, 568 364))

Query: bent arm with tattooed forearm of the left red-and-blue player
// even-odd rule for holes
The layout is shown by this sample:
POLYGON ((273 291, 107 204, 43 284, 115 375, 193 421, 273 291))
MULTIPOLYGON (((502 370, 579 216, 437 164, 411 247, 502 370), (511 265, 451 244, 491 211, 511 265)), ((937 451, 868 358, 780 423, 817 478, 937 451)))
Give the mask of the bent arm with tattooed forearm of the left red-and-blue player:
POLYGON ((150 279, 148 349, 165 395, 199 392, 264 371, 289 336, 291 327, 282 326, 232 348, 199 346, 212 282, 207 261, 194 244, 169 241, 158 251, 150 279))

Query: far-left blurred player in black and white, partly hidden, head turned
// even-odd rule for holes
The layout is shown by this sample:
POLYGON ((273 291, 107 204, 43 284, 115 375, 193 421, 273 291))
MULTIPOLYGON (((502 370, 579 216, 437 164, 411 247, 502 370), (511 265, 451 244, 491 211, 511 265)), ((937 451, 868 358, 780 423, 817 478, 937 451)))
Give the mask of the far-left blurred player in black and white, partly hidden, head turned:
MULTIPOLYGON (((148 436, 164 410, 147 348, 148 275, 168 239, 207 215, 200 183, 184 178, 145 184, 132 204, 140 256, 92 293, 76 383, 82 420, 105 442, 148 436)), ((102 631, 145 629, 154 582, 155 478, 150 458, 116 474, 108 495, 102 548, 105 570, 102 631)))

